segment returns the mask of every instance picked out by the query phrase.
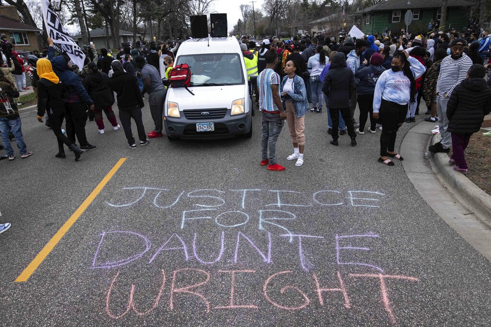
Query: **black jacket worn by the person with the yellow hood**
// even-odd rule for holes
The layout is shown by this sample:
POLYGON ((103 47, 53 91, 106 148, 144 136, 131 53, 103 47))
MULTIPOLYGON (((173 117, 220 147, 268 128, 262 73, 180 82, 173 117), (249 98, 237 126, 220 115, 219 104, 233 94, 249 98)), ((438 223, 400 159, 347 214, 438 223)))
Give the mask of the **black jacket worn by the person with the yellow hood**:
POLYGON ((61 82, 55 84, 46 78, 40 78, 37 81, 37 115, 43 117, 52 108, 64 110, 63 92, 64 85, 61 82))

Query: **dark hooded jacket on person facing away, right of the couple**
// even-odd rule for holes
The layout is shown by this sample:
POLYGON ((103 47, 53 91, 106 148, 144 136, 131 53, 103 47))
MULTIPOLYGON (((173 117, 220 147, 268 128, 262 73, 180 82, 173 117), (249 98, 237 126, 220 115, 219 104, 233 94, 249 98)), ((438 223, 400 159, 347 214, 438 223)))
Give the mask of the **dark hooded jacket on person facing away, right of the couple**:
POLYGON ((355 76, 351 69, 346 67, 344 53, 338 52, 332 58, 331 66, 322 85, 322 92, 329 99, 329 108, 349 107, 355 90, 355 76))

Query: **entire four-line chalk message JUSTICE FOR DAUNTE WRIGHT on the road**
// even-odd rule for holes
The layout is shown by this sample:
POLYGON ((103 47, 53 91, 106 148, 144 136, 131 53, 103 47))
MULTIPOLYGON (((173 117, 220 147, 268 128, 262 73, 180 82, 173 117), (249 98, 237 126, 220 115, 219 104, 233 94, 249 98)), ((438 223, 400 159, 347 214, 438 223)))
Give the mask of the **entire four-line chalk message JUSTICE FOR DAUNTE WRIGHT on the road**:
POLYGON ((384 251, 383 236, 374 231, 310 234, 297 230, 308 225, 305 211, 319 215, 341 208, 376 212, 387 205, 387 198, 379 190, 305 193, 256 188, 125 187, 111 194, 105 204, 115 212, 124 208, 125 213, 128 208, 169 210, 164 215, 169 232, 159 239, 138 230, 99 232, 89 268, 109 270, 105 305, 112 319, 132 312, 146 316, 157 308, 182 311, 186 304, 207 314, 260 311, 268 306, 287 311, 327 305, 351 310, 353 303, 360 302, 359 283, 373 285, 376 280, 379 291, 371 294, 370 305, 385 311, 387 321, 397 324, 395 312, 401 308, 390 301, 391 289, 413 287, 411 282, 419 279, 385 271, 382 256, 374 253, 384 251), (206 234, 200 232, 203 227, 211 227, 215 233, 209 228, 206 234), (152 278, 153 300, 137 304, 141 299, 137 280, 125 271, 134 273, 145 266, 153 267, 159 276, 152 278), (230 287, 226 291, 221 287, 224 278, 230 287))

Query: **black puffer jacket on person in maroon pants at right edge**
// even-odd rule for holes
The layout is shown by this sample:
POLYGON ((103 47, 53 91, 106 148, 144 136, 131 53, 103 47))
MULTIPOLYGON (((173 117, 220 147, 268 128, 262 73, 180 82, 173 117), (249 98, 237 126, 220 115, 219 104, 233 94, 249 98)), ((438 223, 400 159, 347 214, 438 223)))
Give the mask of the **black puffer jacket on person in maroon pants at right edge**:
POLYGON ((448 132, 472 134, 491 112, 491 88, 484 78, 465 78, 452 91, 447 103, 448 132))

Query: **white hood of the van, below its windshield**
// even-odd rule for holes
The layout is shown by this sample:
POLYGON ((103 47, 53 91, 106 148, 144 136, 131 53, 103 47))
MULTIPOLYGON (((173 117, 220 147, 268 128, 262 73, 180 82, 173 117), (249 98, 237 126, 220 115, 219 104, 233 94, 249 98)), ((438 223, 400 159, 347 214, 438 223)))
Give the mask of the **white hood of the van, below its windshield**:
POLYGON ((231 109, 233 101, 249 97, 248 93, 246 94, 247 88, 244 85, 191 86, 188 89, 194 95, 189 93, 184 87, 169 87, 166 101, 176 102, 179 105, 179 111, 212 108, 231 109))

